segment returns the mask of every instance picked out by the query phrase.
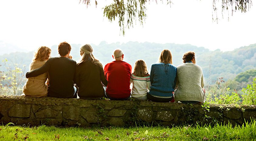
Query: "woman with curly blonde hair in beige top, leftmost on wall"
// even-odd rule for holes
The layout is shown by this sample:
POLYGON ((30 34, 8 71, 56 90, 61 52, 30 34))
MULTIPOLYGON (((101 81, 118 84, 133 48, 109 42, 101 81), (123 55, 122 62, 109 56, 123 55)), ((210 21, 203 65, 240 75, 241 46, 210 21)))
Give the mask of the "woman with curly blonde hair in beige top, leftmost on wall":
MULTIPOLYGON (((41 46, 34 55, 33 62, 29 65, 29 71, 40 68, 50 58, 51 49, 41 46)), ((48 73, 41 74, 36 77, 29 77, 23 86, 23 93, 30 97, 44 97, 48 94, 46 80, 48 73)))

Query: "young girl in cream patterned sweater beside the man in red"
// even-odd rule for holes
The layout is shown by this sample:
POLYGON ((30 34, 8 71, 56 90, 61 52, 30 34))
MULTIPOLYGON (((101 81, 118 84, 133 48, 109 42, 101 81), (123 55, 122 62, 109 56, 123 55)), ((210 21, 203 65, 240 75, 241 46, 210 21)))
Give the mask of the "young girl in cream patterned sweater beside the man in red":
POLYGON ((150 75, 147 65, 139 59, 135 62, 130 82, 132 83, 131 97, 139 100, 147 100, 147 93, 150 90, 150 75))

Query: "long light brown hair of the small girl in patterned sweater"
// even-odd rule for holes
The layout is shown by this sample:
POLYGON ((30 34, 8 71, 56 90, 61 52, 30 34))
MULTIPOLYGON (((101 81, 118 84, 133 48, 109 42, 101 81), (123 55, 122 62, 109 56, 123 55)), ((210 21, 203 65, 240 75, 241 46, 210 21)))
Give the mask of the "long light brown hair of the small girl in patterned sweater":
POLYGON ((133 73, 139 77, 143 77, 148 73, 147 64, 144 60, 139 59, 135 62, 133 73))

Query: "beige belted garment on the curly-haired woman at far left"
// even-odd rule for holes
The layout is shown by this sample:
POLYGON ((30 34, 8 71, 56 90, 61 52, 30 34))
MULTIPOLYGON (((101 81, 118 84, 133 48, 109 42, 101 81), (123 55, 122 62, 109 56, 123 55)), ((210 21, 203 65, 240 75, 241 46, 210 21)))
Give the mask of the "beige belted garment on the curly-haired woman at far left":
MULTIPOLYGON (((40 68, 46 61, 35 61, 29 65, 29 71, 40 68)), ((48 94, 48 88, 45 85, 47 72, 36 77, 29 77, 23 86, 23 93, 30 97, 44 97, 48 94)))

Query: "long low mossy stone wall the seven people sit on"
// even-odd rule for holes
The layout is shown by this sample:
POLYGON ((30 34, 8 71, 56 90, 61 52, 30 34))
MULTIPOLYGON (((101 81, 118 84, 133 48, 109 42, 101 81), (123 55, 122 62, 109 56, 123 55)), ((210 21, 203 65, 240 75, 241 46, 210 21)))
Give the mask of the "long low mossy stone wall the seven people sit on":
POLYGON ((0 122, 17 125, 131 126, 179 125, 196 122, 242 124, 256 118, 256 106, 60 99, 0 96, 0 122))

